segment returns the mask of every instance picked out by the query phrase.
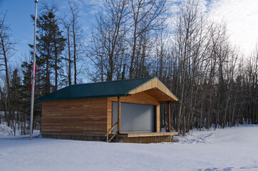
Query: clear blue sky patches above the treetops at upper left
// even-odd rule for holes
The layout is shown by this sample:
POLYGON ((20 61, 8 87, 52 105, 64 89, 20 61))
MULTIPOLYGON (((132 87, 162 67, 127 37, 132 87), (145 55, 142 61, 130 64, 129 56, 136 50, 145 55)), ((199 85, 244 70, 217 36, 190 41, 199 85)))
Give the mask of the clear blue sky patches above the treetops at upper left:
MULTIPOLYGON (((59 14, 62 16, 68 11, 68 1, 62 0, 38 0, 38 14, 41 11, 43 2, 47 4, 55 3, 58 5, 59 14)), ((91 32, 91 25, 95 19, 96 12, 103 9, 102 0, 88 0, 88 1, 76 1, 81 7, 81 25, 86 34, 91 32)), ((29 56, 28 44, 33 44, 33 32, 34 26, 31 19, 31 14, 35 14, 35 2, 34 0, 0 0, 0 11, 7 11, 6 24, 11 27, 11 36, 14 41, 17 41, 15 60, 17 65, 20 65, 21 61, 24 61, 29 56)))

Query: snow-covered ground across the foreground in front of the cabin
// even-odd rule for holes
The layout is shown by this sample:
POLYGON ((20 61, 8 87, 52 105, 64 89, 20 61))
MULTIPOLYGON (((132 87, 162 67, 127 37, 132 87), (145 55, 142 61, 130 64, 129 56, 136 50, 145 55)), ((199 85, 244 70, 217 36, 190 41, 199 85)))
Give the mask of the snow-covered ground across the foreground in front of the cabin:
POLYGON ((0 137, 0 170, 258 170, 258 126, 194 130, 179 142, 0 137))

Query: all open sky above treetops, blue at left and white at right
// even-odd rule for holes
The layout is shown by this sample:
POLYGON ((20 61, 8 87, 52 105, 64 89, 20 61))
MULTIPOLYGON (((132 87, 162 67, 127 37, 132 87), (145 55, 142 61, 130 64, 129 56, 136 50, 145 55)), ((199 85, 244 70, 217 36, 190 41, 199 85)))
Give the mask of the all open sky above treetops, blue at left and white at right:
MULTIPOLYGON (((81 7, 81 26, 86 36, 91 33, 95 14, 101 11, 104 0, 73 0, 81 7)), ((184 1, 184 0, 170 0, 184 1)), ((55 3, 59 6, 61 16, 68 10, 66 0, 38 0, 38 13, 42 3, 55 3)), ((254 49, 258 42, 258 0, 200 0, 205 4, 212 19, 227 22, 229 38, 232 44, 239 46, 243 52, 254 49)), ((11 35, 16 45, 15 60, 17 65, 28 59, 29 43, 33 43, 33 21, 30 15, 35 12, 34 0, 0 0, 0 11, 7 11, 6 23, 11 26, 11 35), (24 57, 27 56, 27 57, 24 57)))

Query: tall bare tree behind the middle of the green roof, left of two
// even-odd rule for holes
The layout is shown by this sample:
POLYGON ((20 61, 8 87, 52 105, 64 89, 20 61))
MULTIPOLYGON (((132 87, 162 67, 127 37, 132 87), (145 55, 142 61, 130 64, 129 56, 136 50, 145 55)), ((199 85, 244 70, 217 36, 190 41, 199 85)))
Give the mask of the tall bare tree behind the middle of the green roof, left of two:
POLYGON ((106 4, 108 9, 105 13, 96 16, 97 24, 93 28, 89 49, 90 58, 100 71, 100 80, 104 81, 106 76, 107 81, 112 81, 115 71, 120 76, 122 66, 125 66, 128 1, 107 0, 106 4))

